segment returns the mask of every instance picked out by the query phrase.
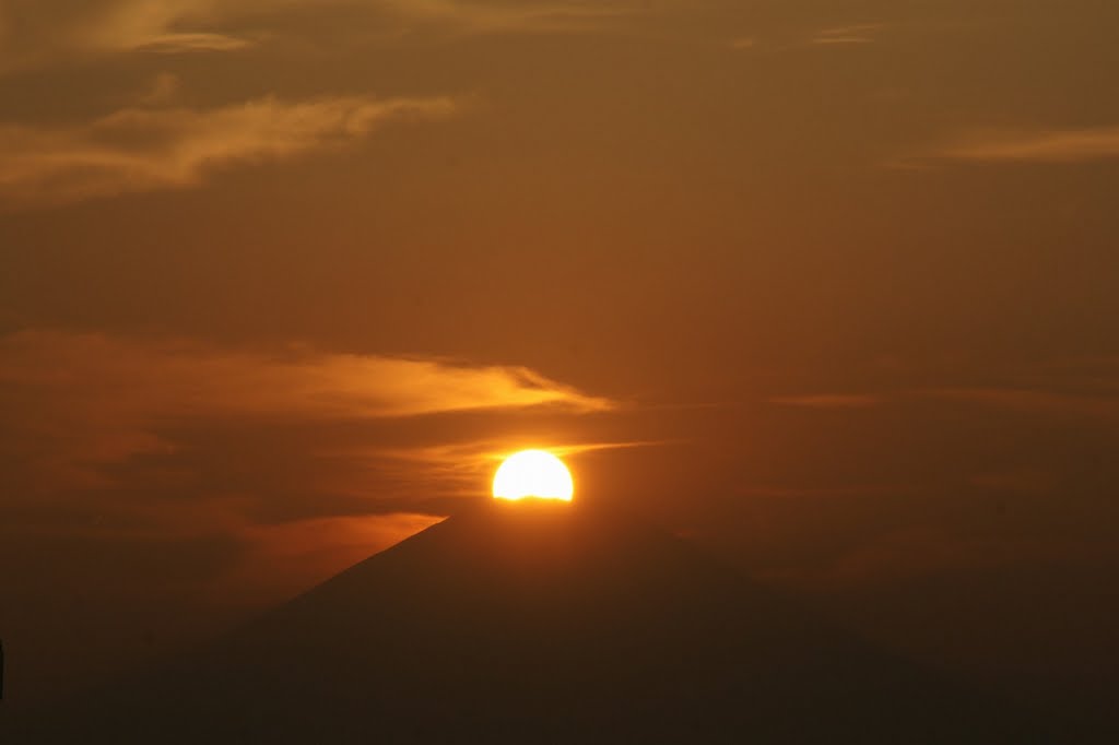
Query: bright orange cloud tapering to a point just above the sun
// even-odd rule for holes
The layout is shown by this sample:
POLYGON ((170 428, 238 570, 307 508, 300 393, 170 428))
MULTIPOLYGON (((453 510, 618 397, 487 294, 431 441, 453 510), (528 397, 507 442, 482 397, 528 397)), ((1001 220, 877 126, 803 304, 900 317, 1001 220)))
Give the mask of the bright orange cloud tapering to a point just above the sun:
POLYGON ((13 397, 9 425, 22 419, 30 431, 77 437, 95 462, 164 451, 157 430, 168 421, 337 422, 613 407, 524 367, 298 347, 238 351, 55 331, 0 338, 0 383, 13 397))

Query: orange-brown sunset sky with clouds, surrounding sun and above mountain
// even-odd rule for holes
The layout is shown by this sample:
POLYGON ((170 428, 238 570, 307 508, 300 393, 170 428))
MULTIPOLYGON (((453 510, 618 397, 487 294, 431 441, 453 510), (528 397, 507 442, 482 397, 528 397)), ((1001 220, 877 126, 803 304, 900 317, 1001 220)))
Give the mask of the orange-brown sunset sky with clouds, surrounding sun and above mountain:
POLYGON ((0 0, 10 686, 204 636, 536 446, 883 643, 1101 696, 1117 28, 0 0))

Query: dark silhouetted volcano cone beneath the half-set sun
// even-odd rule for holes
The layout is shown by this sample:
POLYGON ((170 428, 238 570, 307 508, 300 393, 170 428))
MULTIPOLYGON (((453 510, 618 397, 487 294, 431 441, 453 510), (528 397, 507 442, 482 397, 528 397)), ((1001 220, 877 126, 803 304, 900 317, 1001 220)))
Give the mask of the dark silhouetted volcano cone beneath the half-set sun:
POLYGON ((947 686, 684 541, 545 503, 452 517, 69 725, 105 743, 1003 742, 947 686))

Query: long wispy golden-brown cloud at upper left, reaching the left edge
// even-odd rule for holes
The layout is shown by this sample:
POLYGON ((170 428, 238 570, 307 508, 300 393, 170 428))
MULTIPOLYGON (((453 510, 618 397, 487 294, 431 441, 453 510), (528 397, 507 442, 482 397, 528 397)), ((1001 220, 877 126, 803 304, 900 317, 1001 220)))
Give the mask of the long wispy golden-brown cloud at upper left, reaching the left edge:
POLYGON ((208 110, 125 109, 69 128, 0 124, 0 204, 198 186, 215 170, 344 145, 388 121, 455 109, 450 98, 265 97, 208 110))

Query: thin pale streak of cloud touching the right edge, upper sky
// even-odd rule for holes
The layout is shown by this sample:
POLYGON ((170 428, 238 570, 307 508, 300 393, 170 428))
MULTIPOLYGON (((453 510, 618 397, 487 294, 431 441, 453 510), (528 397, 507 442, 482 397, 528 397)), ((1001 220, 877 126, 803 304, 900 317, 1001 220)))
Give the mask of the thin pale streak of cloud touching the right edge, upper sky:
POLYGON ((972 135, 942 148, 932 158, 991 163, 1110 160, 1119 158, 1119 126, 972 135))

